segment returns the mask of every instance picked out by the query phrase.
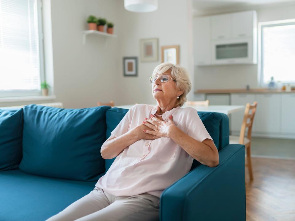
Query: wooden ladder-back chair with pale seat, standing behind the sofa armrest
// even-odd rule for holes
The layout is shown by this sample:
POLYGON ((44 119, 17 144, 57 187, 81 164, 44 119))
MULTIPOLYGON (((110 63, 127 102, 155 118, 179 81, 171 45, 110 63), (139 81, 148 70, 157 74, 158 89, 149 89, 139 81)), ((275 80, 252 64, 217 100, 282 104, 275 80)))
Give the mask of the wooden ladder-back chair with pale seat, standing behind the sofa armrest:
POLYGON ((249 171, 250 180, 253 180, 253 171, 252 171, 252 163, 251 163, 251 133, 252 126, 254 122, 254 116, 256 112, 257 102, 255 101, 253 104, 247 103, 244 113, 244 118, 241 126, 240 136, 231 136, 230 135, 230 144, 243 144, 245 145, 245 149, 247 152, 247 164, 249 171), (251 110, 251 113, 250 113, 251 110), (249 120, 248 120, 249 119, 249 120), (245 137, 245 131, 248 128, 247 136, 245 137))

